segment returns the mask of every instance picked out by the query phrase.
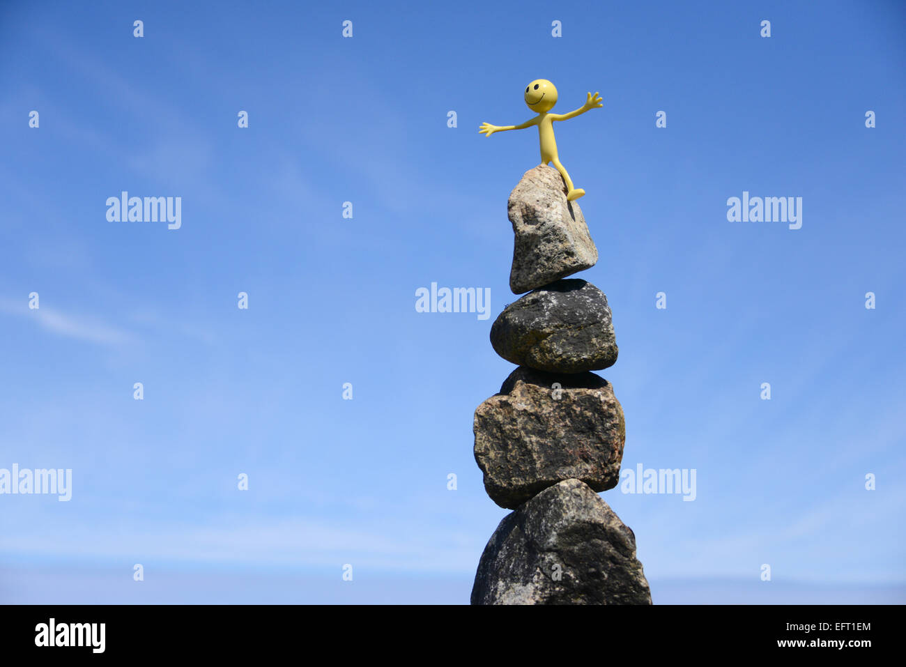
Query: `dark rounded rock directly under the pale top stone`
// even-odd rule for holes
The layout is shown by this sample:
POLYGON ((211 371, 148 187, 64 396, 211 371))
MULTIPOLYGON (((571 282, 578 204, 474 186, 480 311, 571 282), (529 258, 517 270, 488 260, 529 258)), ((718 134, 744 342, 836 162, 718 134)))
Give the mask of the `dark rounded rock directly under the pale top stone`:
POLYGON ((509 304, 491 326, 506 361, 548 372, 600 371, 617 361, 607 296, 584 280, 558 280, 509 304))

